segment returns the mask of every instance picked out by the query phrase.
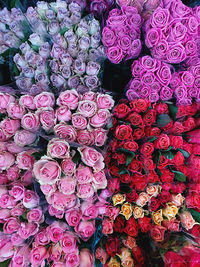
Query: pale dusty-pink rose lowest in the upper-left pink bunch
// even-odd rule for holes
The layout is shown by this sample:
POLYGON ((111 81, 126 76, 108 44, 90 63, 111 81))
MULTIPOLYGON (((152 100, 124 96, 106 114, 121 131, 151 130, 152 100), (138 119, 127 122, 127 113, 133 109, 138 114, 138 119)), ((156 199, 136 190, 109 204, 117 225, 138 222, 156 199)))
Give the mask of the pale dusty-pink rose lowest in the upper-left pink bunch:
POLYGON ((18 146, 27 146, 35 142, 36 134, 26 130, 17 131, 14 136, 14 142, 18 146))

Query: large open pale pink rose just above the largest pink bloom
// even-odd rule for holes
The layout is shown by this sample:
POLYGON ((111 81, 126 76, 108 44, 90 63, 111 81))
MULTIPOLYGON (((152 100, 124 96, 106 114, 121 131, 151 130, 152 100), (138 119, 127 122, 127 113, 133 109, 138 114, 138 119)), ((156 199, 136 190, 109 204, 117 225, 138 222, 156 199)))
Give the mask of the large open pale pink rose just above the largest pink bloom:
POLYGON ((47 146, 47 155, 51 158, 69 158, 70 146, 65 140, 53 138, 47 146))

